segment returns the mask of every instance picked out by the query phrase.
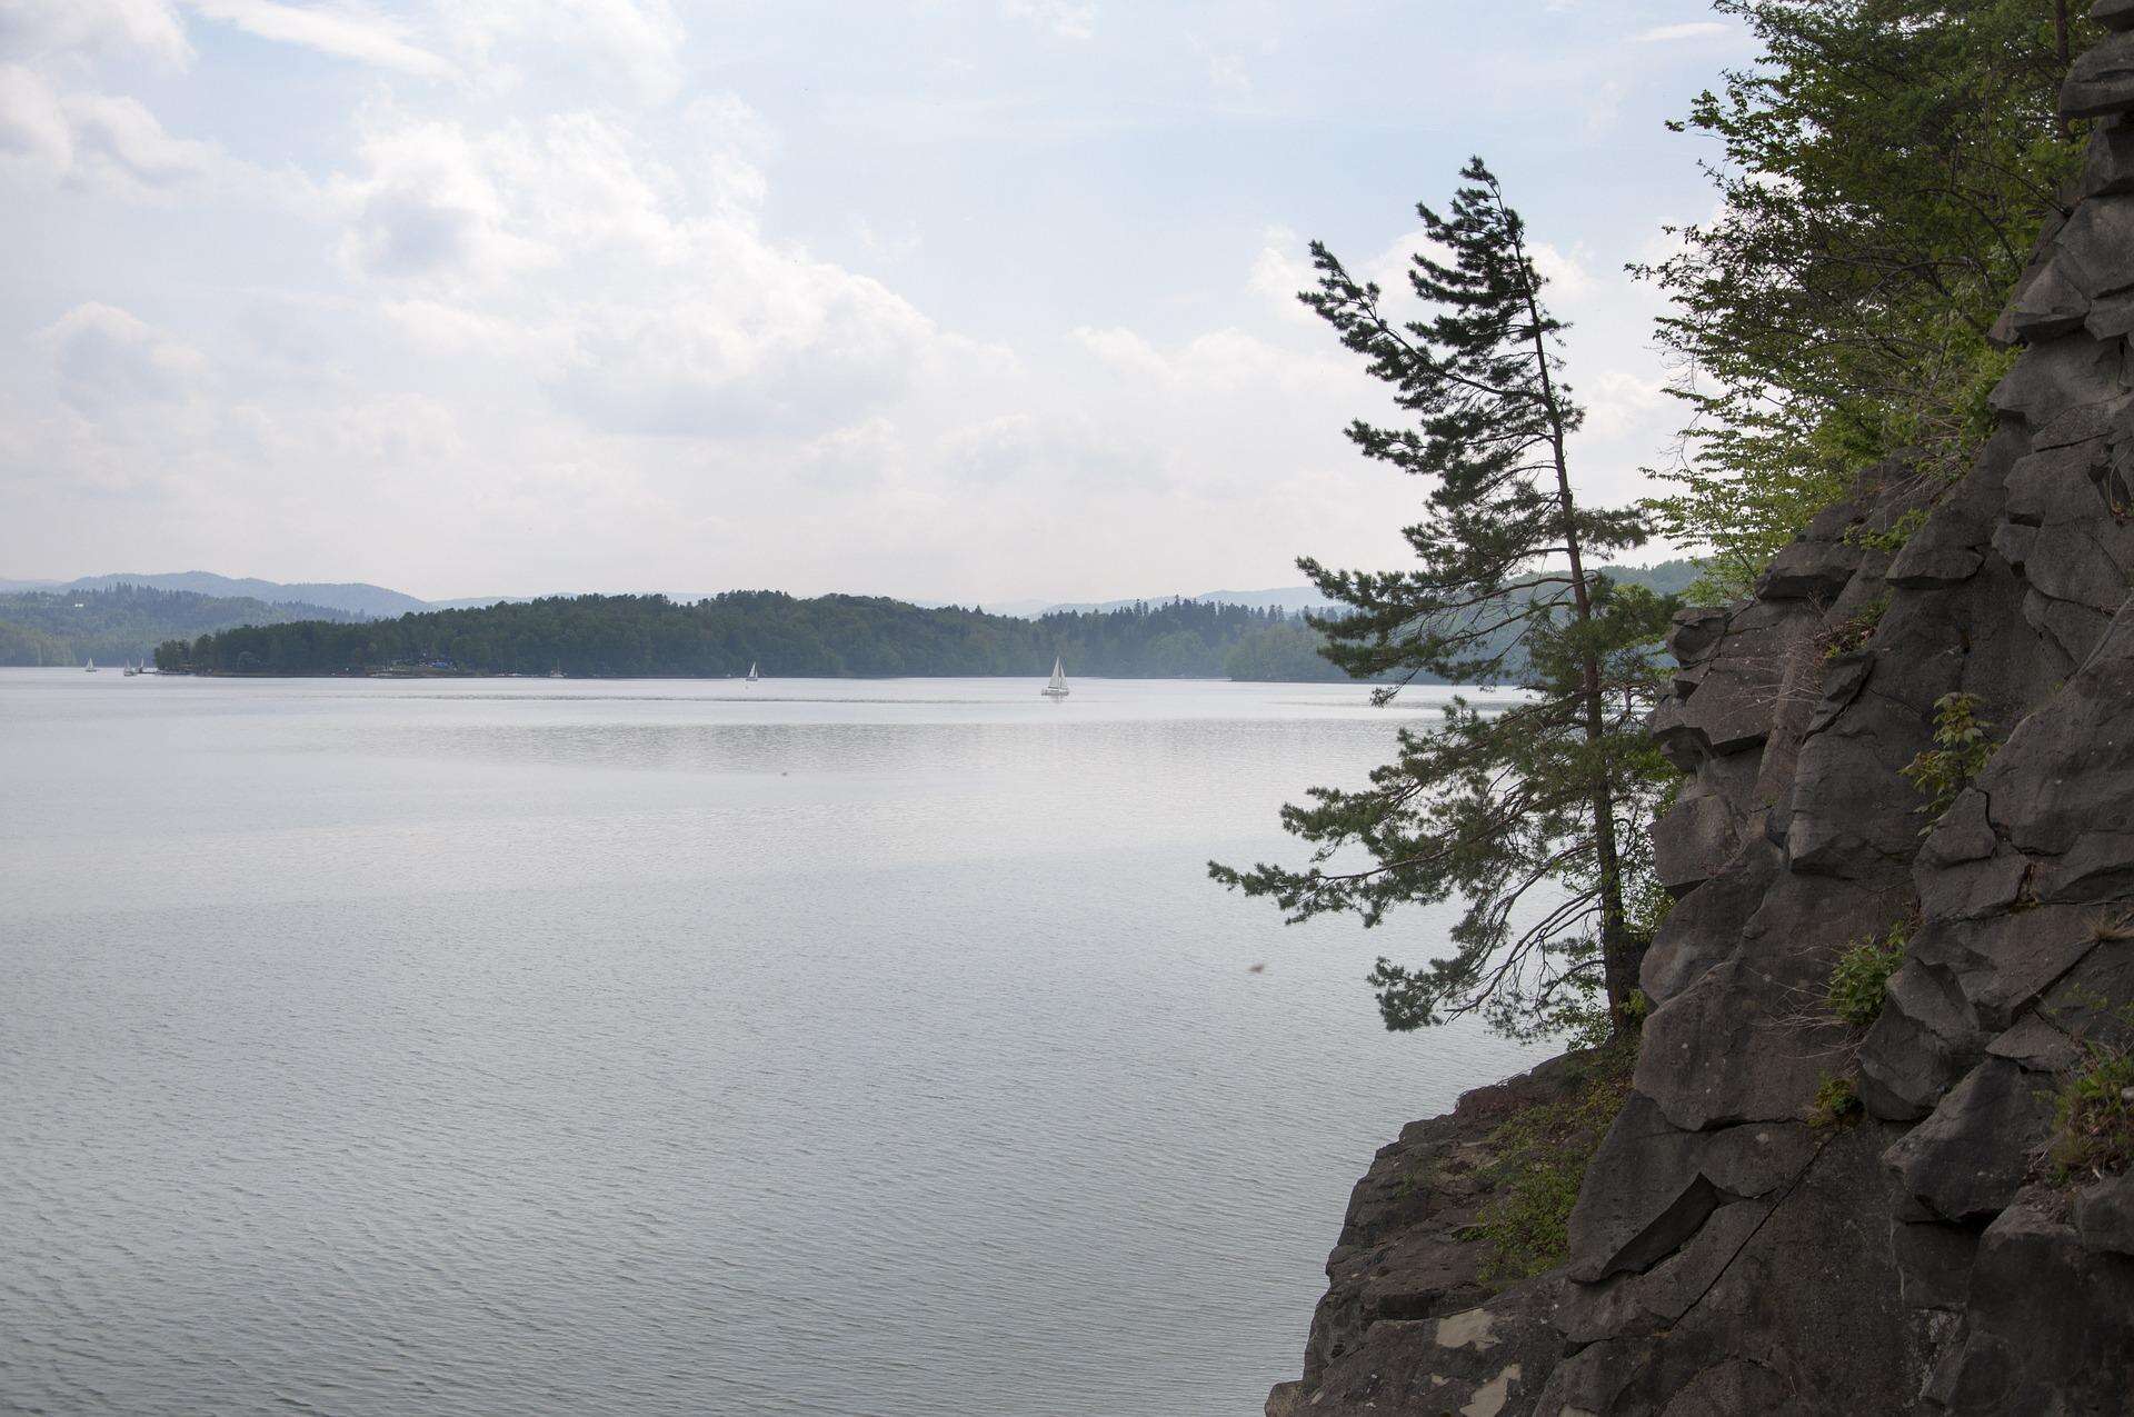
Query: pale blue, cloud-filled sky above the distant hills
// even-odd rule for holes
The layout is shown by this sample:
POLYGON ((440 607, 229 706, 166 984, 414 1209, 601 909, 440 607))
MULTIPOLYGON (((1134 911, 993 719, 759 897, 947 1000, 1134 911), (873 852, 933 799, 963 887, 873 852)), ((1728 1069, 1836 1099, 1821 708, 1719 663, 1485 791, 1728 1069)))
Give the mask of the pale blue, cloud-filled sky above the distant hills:
POLYGON ((1487 158, 1590 497, 1679 408, 1692 0, 0 0, 0 576, 984 604, 1394 568, 1306 241, 1487 158))

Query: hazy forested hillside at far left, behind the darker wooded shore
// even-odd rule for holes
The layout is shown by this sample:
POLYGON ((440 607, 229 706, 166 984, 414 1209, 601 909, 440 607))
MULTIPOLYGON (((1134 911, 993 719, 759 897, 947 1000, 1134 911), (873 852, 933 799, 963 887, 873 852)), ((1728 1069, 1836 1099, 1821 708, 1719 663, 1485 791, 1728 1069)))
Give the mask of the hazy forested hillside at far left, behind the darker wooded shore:
POLYGON ((248 595, 158 591, 113 585, 102 591, 26 591, 0 595, 0 664, 81 664, 147 659, 169 638, 192 638, 233 625, 284 621, 348 621, 344 610, 248 595))

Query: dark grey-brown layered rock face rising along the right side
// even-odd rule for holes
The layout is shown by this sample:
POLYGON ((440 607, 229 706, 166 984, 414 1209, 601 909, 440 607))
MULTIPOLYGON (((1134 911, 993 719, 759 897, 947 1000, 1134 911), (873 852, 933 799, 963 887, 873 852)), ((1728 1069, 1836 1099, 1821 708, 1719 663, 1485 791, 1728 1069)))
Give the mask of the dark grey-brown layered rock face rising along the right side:
POLYGON ((2004 316, 2025 348, 1976 467, 1878 469, 1754 600, 1677 621, 1654 732, 1692 781, 1654 845, 1679 903, 1568 1265, 1485 1297, 1458 1189, 1385 1199, 1464 1135, 1417 1125, 1357 1189, 1272 1417, 2134 1413, 2134 1178, 2040 1161, 2081 1041, 2134 1044, 2134 0, 2093 13, 2117 34, 2064 107, 2104 122, 2004 316), (1948 694, 2002 745, 1927 819, 1901 768, 1948 694), (1901 922, 1861 1035, 1831 965, 1901 922), (1825 1076, 1861 1120, 1803 1123, 1825 1076))

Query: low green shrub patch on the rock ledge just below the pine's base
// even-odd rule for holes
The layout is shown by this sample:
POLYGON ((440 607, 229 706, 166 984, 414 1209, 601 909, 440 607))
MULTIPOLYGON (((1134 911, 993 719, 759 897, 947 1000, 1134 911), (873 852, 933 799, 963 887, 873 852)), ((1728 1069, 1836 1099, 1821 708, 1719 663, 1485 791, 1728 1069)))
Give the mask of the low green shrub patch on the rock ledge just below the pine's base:
POLYGON ((1513 1285, 1564 1263, 1586 1165, 1622 1112, 1635 1069, 1635 1048, 1598 1050, 1571 1093, 1513 1114, 1483 1142, 1494 1159, 1477 1176, 1492 1195, 1462 1238, 1490 1242, 1485 1285, 1513 1285))

